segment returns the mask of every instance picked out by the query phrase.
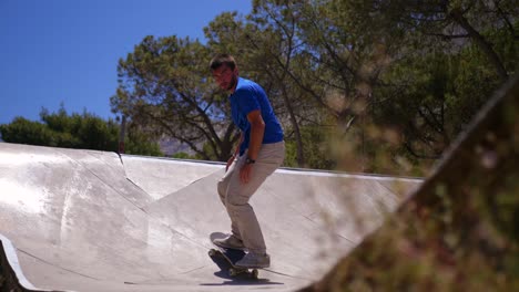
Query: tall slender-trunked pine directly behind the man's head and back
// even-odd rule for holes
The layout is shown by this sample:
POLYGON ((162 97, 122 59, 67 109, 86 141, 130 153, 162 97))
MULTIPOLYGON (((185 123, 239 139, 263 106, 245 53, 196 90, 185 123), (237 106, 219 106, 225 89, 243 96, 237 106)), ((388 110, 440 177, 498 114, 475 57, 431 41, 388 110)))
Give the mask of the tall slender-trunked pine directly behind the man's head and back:
POLYGON ((297 51, 294 43, 296 18, 291 14, 291 4, 278 8, 268 1, 255 1, 253 13, 246 20, 236 13, 222 13, 205 28, 205 33, 212 51, 235 54, 241 74, 254 79, 265 88, 276 115, 285 122, 285 131, 295 139, 297 165, 303 167, 305 158, 299 129, 303 114, 302 106, 295 103, 304 97, 301 92, 295 94, 297 86, 291 84, 287 75, 297 51))

